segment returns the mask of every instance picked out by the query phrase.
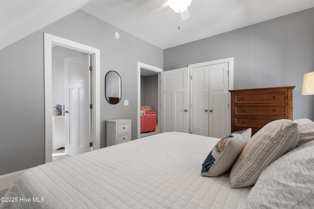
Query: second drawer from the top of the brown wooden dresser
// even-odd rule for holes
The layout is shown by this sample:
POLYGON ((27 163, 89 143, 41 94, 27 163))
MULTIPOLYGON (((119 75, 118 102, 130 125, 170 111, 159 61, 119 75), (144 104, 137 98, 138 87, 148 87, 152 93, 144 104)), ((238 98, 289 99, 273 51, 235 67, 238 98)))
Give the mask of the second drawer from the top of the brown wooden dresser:
POLYGON ((239 105, 235 115, 288 117, 288 105, 239 105))

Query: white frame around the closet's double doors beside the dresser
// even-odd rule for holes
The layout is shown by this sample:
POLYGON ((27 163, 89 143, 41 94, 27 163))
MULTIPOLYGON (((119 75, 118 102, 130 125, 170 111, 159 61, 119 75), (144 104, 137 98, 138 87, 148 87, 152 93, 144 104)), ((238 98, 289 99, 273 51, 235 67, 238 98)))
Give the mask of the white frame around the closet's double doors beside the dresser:
MULTIPOLYGON (((221 63, 228 63, 228 70, 229 70, 228 90, 233 90, 234 89, 234 57, 228 57, 228 58, 211 60, 211 61, 202 62, 202 63, 190 64, 190 65, 188 65, 189 76, 191 76, 191 69, 192 68, 209 66, 209 65, 216 65, 216 64, 221 64, 221 63)), ((190 80, 190 82, 191 82, 191 80, 190 80)), ((189 91, 191 91, 191 90, 189 89, 189 91)), ((229 92, 228 94, 229 94, 229 98, 228 98, 228 104, 229 104, 228 130, 229 130, 229 132, 231 132, 231 93, 229 92)), ((189 103, 191 105, 191 98, 190 97, 189 97, 189 103)), ((191 114, 191 112, 189 114, 191 114)), ((191 116, 189 116, 189 118, 191 120, 191 116)), ((189 133, 191 133, 191 121, 189 121, 189 133)))

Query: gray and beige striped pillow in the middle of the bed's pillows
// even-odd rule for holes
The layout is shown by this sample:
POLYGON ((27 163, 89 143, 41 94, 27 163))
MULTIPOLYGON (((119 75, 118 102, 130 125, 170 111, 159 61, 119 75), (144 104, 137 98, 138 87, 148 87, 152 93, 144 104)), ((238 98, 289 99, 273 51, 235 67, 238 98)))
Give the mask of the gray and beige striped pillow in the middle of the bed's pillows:
POLYGON ((232 188, 256 183, 267 165, 295 148, 299 140, 297 123, 288 119, 272 121, 246 144, 230 173, 232 188))

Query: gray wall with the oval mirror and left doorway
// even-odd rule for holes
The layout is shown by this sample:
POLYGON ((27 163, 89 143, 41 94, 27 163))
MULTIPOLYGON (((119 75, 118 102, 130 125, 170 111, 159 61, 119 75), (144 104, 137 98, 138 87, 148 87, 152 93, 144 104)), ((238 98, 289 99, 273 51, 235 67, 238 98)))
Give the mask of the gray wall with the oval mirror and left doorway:
POLYGON ((162 68, 163 51, 81 10, 0 50, 0 175, 45 162, 44 39, 50 33, 99 48, 101 58, 101 147, 105 120, 132 119, 137 138, 137 62, 162 68), (113 32, 120 39, 113 38, 113 32), (105 74, 119 72, 122 102, 105 100, 105 74), (124 106, 124 99, 129 106, 124 106))

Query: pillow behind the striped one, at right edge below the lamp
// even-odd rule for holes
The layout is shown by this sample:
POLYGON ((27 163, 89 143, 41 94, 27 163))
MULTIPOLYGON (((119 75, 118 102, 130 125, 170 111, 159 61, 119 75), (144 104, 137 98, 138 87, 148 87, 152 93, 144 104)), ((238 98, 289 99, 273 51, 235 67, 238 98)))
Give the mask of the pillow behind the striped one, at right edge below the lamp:
POLYGON ((296 146, 300 146, 306 142, 314 140, 314 122, 307 118, 293 120, 298 124, 299 142, 296 146))

